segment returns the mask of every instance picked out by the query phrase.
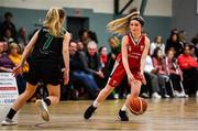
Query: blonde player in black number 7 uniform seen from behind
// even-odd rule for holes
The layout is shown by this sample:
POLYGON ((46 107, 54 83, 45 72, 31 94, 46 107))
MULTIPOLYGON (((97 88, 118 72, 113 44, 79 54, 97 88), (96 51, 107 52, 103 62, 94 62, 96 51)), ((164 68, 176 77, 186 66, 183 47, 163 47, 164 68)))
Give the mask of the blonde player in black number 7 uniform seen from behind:
POLYGON ((69 77, 69 53, 68 43, 70 34, 64 28, 65 12, 61 8, 51 8, 46 14, 43 28, 38 30, 26 45, 21 63, 13 69, 13 75, 22 73, 22 67, 28 56, 31 55, 30 70, 26 77, 26 89, 20 95, 9 110, 2 125, 13 125, 16 121, 12 118, 20 110, 28 99, 35 92, 37 83, 43 81, 47 86, 48 97, 36 100, 41 109, 41 117, 50 121, 47 106, 58 103, 61 92, 61 67, 59 57, 63 55, 65 70, 64 84, 68 84, 69 77))

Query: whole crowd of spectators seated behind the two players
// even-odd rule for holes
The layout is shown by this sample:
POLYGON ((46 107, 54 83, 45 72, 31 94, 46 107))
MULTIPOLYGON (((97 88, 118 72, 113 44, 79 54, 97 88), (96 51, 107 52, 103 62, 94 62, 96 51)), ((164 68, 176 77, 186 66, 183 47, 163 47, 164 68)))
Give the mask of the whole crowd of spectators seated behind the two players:
MULTIPOLYGON (((12 72, 29 43, 26 29, 16 31, 12 18, 12 13, 7 12, 4 21, 0 23, 0 73, 12 72)), ((191 37, 190 42, 185 36, 185 31, 174 29, 166 42, 160 34, 153 42, 151 40, 144 69, 147 85, 142 86, 142 97, 198 97, 198 35, 191 37)), ((121 37, 112 35, 107 43, 99 44, 97 34, 89 30, 81 30, 79 39, 70 41, 70 78, 67 88, 62 85, 63 100, 95 99, 105 87, 116 57, 121 52, 121 37)), ((23 72, 16 77, 19 94, 25 89, 28 62, 23 72)), ((109 98, 125 98, 129 89, 125 77, 109 98)))

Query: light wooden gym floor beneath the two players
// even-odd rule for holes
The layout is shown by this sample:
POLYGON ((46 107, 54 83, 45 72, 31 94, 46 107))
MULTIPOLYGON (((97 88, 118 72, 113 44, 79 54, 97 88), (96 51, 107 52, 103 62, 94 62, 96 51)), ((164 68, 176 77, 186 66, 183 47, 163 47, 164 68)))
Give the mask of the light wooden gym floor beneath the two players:
MULTIPOLYGON (((2 131, 197 131, 198 98, 147 99, 148 108, 142 116, 129 113, 130 121, 117 118, 124 100, 107 100, 90 120, 84 120, 89 100, 62 101, 50 107, 51 122, 44 122, 34 103, 26 103, 15 116, 18 125, 2 127, 2 131)), ((0 106, 0 120, 8 106, 0 106)))

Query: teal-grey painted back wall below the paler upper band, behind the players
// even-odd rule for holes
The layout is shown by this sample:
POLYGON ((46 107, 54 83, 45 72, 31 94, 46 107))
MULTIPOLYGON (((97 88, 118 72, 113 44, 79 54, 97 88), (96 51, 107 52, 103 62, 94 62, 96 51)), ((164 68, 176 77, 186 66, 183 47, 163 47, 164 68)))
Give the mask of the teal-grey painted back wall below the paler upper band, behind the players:
MULTIPOLYGON (((30 10, 30 9, 16 9, 16 8, 1 8, 0 7, 0 22, 3 20, 4 12, 10 11, 13 13, 13 22, 15 23, 16 29, 24 26, 28 29, 29 33, 32 33, 37 24, 40 24, 45 14, 46 10, 30 10)), ((107 44, 108 37, 111 35, 107 32, 107 23, 113 19, 113 14, 110 13, 95 13, 90 9, 66 9, 68 17, 82 17, 89 18, 89 30, 95 31, 98 36, 100 45, 107 44)), ((169 35, 172 18, 168 17, 146 17, 145 31, 153 41, 153 39, 161 34, 164 40, 169 35)))

